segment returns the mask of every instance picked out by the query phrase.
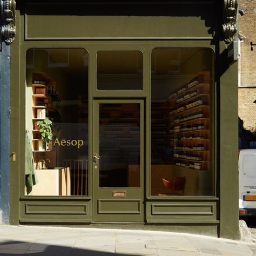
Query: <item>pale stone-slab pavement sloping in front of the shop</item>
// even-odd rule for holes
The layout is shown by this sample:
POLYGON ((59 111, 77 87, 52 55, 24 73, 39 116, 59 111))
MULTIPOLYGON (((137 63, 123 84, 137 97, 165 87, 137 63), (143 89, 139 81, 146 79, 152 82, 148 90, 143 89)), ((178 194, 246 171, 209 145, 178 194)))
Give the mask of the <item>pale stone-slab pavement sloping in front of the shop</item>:
POLYGON ((256 244, 186 233, 83 227, 0 226, 0 255, 247 256, 256 244))

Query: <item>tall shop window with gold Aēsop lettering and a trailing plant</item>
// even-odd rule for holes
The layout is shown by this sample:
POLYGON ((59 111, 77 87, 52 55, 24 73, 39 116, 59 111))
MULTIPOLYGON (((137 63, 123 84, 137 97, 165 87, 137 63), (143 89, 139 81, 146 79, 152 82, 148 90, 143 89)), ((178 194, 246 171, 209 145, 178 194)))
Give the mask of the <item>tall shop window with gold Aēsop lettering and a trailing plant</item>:
POLYGON ((26 52, 25 194, 88 194, 88 52, 26 52))

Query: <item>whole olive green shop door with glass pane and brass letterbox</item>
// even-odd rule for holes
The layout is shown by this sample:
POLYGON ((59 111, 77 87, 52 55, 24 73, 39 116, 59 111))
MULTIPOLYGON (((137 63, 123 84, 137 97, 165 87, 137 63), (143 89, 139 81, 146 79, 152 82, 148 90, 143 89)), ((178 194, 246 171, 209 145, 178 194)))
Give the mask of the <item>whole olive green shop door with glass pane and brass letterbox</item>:
POLYGON ((93 221, 144 221, 144 101, 93 103, 93 221))

